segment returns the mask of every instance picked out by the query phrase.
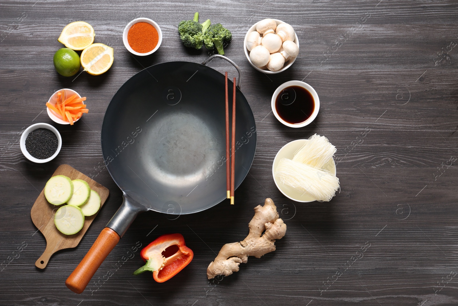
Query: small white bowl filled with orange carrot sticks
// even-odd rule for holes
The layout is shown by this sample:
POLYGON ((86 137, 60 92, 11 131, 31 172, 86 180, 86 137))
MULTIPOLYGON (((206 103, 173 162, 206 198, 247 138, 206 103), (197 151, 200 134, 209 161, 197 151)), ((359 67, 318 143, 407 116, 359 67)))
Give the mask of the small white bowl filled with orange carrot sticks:
POLYGON ((85 100, 86 97, 81 97, 73 89, 59 89, 46 103, 46 111, 48 111, 48 116, 52 121, 73 125, 81 118, 82 114, 88 112, 84 103, 85 100))

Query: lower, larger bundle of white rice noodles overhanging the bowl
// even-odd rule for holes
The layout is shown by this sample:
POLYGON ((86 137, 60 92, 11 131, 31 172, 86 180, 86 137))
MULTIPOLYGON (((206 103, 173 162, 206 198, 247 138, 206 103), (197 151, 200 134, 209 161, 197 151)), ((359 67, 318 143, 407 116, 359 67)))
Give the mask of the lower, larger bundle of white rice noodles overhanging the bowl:
POLYGON ((303 191, 318 201, 330 201, 339 188, 339 179, 332 173, 288 158, 280 160, 275 175, 282 184, 303 191))

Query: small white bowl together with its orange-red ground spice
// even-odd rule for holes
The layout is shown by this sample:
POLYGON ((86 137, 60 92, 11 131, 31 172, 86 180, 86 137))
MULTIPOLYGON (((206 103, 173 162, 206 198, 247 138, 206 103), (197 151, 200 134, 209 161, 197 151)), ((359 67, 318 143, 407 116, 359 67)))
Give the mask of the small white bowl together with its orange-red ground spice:
POLYGON ((132 54, 150 55, 161 45, 162 31, 153 20, 144 17, 136 18, 125 26, 122 41, 132 54))

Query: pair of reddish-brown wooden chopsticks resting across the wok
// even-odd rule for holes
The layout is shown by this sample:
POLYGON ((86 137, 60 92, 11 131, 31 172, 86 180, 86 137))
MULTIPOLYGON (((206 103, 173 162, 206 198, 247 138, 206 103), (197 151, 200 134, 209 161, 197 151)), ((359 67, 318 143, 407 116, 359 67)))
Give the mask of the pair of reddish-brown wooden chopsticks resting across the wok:
POLYGON ((235 189, 235 78, 234 89, 232 94, 232 155, 229 149, 229 97, 228 97, 228 73, 225 77, 226 85, 226 187, 227 198, 230 199, 230 204, 234 205, 234 189, 235 189), (229 159, 231 162, 229 164, 229 159))

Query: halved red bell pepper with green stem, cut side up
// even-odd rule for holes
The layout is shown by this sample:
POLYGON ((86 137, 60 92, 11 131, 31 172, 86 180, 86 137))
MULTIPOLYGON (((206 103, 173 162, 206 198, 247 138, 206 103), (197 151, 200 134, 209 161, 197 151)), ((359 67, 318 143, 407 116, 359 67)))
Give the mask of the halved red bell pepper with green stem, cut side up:
POLYGON ((146 264, 133 274, 139 275, 145 271, 152 271, 154 280, 163 283, 186 267, 194 257, 194 253, 185 245, 182 234, 168 234, 158 237, 144 247, 140 256, 146 264), (169 249, 166 250, 167 248, 169 249))

